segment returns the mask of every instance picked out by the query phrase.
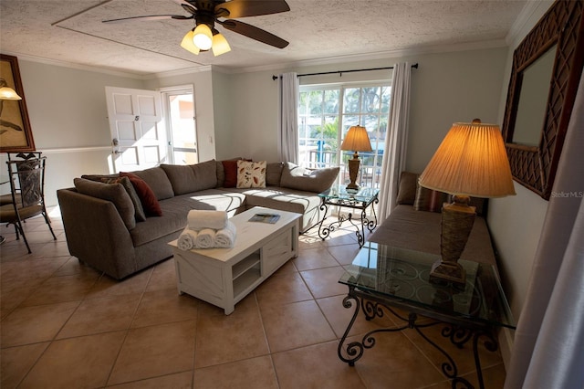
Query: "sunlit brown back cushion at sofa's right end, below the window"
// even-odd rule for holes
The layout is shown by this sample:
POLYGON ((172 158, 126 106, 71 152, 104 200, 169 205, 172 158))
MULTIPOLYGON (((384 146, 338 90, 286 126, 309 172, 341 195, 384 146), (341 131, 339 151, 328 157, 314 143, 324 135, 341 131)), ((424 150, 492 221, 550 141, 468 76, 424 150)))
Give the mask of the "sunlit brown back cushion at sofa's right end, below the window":
POLYGON ((310 170, 298 166, 296 163, 287 163, 282 169, 280 186, 321 193, 334 184, 339 175, 339 167, 328 167, 317 170, 310 170))

